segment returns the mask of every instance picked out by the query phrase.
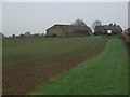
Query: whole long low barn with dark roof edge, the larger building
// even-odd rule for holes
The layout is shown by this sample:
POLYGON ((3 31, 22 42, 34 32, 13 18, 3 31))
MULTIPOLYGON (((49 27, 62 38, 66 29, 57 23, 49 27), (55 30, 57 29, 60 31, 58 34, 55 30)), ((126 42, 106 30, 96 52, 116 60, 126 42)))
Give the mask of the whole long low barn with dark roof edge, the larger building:
POLYGON ((78 25, 54 25, 47 29, 47 37, 83 37, 91 34, 88 26, 78 25))

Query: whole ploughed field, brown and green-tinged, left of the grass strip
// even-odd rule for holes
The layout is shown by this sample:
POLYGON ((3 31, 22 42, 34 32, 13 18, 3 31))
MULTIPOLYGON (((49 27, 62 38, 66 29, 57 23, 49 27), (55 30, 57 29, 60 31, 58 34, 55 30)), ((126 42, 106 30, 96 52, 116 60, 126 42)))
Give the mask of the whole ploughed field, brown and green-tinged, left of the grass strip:
POLYGON ((24 95, 100 54, 107 39, 9 38, 2 43, 3 95, 24 95))

